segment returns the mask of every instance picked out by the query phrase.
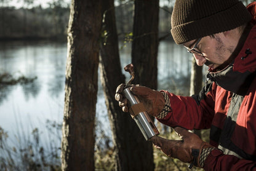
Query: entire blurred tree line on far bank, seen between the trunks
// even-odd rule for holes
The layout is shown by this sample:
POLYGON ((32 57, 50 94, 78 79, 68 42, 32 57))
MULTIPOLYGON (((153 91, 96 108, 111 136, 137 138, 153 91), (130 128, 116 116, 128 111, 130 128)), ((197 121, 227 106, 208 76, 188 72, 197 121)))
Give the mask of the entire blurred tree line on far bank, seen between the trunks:
MULTIPOLYGON (((128 1, 115 7, 119 38, 132 41, 134 3, 128 1)), ((172 7, 159 10, 159 36, 170 34, 172 7)), ((52 4, 47 8, 0 7, 0 40, 6 39, 66 39, 70 7, 52 4)))

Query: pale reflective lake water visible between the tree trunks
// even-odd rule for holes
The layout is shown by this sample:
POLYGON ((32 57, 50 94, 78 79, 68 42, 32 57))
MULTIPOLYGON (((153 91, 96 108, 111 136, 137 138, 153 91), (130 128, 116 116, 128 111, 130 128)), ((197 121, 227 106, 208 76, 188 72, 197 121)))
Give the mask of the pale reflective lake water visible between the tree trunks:
MULTIPOLYGON (((130 44, 121 44, 120 48, 123 68, 131 62, 130 44)), ((158 51, 158 89, 188 95, 192 56, 169 41, 162 41, 158 51)), ((0 89, 0 127, 14 143, 26 141, 38 128, 42 144, 47 145, 53 138, 55 145, 60 146, 61 130, 55 130, 53 135, 53 130, 47 127, 62 124, 66 52, 65 42, 0 42, 0 73, 10 73, 14 78, 36 78, 29 84, 0 89)), ((97 119, 110 136, 100 79, 97 99, 97 119)))

